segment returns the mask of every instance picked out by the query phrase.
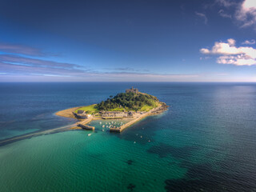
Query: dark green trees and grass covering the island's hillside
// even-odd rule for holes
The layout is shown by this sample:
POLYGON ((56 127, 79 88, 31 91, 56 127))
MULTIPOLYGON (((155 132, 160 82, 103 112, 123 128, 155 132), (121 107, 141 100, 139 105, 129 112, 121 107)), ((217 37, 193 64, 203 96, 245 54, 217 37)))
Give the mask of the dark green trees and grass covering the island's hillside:
POLYGON ((148 111, 159 105, 158 98, 150 94, 121 93, 98 103, 97 110, 142 110, 148 111))

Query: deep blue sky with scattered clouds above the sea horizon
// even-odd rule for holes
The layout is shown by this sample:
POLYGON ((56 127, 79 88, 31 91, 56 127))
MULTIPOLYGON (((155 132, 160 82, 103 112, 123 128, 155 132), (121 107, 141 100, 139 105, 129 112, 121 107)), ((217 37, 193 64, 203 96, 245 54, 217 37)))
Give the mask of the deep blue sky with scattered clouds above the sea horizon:
POLYGON ((1 0, 0 82, 256 82, 256 0, 1 0))

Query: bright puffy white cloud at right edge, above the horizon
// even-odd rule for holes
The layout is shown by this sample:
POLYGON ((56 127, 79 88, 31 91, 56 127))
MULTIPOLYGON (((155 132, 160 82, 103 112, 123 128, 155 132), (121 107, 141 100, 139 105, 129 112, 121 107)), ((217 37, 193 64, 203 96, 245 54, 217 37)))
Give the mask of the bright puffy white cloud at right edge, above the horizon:
POLYGON ((202 48, 202 54, 220 55, 217 62, 220 64, 233 64, 236 66, 256 65, 256 49, 250 46, 235 46, 233 38, 227 39, 227 42, 215 42, 211 50, 202 48))

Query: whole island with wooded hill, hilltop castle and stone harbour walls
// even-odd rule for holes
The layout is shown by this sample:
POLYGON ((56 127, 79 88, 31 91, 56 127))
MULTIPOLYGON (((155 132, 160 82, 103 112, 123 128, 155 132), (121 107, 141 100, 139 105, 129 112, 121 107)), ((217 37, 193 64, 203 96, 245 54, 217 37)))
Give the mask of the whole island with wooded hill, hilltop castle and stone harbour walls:
POLYGON ((82 128, 84 130, 94 130, 94 126, 88 123, 98 119, 128 119, 121 126, 108 126, 111 132, 122 132, 128 126, 146 118, 149 115, 160 114, 167 110, 165 102, 160 102, 153 95, 141 93, 132 87, 125 93, 116 96, 110 95, 106 101, 90 106, 79 106, 67 110, 58 111, 58 116, 78 119, 77 126, 72 129, 82 128))

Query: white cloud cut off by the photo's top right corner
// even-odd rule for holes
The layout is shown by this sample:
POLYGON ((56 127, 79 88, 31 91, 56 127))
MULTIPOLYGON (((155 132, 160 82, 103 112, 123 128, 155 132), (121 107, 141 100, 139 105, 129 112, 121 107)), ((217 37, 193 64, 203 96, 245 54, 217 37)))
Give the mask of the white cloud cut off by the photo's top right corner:
POLYGON ((245 0, 240 4, 235 18, 242 22, 242 27, 253 26, 256 24, 256 1, 245 0))

